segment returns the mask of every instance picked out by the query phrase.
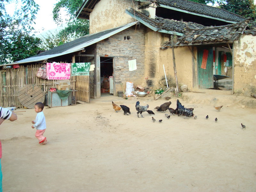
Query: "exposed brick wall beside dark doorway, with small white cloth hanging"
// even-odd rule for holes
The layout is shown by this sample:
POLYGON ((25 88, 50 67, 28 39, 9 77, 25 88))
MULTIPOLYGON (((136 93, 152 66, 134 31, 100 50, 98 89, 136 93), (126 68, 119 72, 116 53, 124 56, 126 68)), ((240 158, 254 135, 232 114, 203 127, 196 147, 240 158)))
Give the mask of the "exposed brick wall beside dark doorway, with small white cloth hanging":
POLYGON ((132 81, 134 87, 142 84, 145 79, 145 27, 137 26, 135 30, 135 26, 132 26, 98 42, 96 54, 114 57, 116 94, 122 91, 121 83, 123 83, 124 90, 127 81, 132 81), (130 36, 130 39, 124 40, 124 36, 130 36), (134 59, 136 59, 137 69, 129 71, 128 60, 134 59))

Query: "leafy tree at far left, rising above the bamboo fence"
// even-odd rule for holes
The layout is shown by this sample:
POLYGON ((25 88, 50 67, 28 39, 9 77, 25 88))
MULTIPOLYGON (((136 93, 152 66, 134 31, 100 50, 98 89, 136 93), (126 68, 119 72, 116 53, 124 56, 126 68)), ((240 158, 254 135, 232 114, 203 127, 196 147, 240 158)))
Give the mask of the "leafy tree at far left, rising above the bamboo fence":
POLYGON ((39 10, 34 0, 0 0, 0 64, 25 59, 36 54, 40 40, 30 36, 34 29, 31 24, 39 10), (15 4, 11 16, 6 12, 6 4, 15 4), (21 44, 26 46, 21 46, 21 44), (15 45, 17 44, 17 49, 15 45), (33 50, 28 50, 29 49, 33 50), (19 53, 20 52, 20 53, 19 53), (17 59, 17 57, 19 59, 17 59))

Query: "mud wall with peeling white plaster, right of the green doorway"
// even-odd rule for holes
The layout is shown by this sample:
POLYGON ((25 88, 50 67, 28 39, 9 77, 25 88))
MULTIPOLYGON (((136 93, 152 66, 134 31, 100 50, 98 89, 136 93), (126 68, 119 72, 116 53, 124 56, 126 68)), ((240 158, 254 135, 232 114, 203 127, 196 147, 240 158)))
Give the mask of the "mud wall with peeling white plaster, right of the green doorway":
POLYGON ((256 89, 256 36, 243 35, 233 44, 234 92, 249 96, 256 89))

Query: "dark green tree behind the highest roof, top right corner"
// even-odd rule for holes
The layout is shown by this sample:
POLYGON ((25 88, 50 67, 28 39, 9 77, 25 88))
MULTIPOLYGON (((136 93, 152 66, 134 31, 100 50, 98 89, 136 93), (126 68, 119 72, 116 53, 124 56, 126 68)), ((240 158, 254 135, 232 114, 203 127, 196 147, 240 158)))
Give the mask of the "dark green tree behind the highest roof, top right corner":
POLYGON ((256 19, 256 5, 253 0, 220 0, 220 8, 236 13, 242 17, 256 19))

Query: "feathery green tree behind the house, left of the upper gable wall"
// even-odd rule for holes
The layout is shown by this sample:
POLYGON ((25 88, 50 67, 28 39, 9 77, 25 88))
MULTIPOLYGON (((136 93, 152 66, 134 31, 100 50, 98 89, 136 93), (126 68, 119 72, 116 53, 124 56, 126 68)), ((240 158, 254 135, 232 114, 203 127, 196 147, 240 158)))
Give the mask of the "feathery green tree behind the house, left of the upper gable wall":
POLYGON ((62 18, 60 14, 61 8, 65 8, 69 19, 67 26, 60 30, 58 36, 64 41, 70 41, 75 38, 89 34, 89 21, 84 19, 77 19, 75 17, 76 11, 83 4, 84 0, 60 0, 53 9, 53 20, 62 25, 62 18))

